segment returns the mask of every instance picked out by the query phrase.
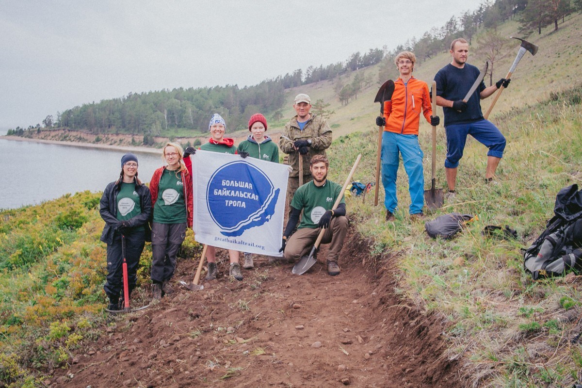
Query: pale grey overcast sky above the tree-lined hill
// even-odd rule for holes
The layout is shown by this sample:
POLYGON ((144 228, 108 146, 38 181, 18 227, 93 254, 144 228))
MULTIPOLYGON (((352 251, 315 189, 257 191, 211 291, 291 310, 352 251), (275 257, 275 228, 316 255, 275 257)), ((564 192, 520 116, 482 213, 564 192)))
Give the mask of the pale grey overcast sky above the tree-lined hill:
POLYGON ((0 128, 129 92, 254 85, 395 48, 482 0, 0 0, 0 128))

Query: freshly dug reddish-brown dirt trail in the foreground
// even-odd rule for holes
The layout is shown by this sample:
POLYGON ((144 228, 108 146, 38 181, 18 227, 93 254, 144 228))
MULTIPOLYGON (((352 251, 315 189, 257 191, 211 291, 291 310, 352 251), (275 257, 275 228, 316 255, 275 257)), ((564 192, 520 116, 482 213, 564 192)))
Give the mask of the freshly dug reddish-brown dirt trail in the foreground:
MULTIPOLYGON (((359 253, 369 251, 365 243, 350 237, 346 245, 336 277, 321 262, 296 276, 291 265, 260 257, 243 282, 176 288, 118 319, 68 370, 55 371, 51 386, 463 386, 456 363, 442 357, 439 319, 395 296, 391 270, 371 279, 359 253)), ((175 279, 191 280, 195 265, 179 261, 175 279)))

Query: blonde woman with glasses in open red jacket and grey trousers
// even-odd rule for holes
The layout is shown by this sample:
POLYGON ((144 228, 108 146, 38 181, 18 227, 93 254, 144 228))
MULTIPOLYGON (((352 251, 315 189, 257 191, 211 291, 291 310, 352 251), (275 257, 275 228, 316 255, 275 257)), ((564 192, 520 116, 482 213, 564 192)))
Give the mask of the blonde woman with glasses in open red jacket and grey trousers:
POLYGON ((176 269, 176 255, 186 237, 186 227, 192 227, 192 177, 184 165, 183 153, 180 144, 166 143, 162 158, 168 165, 155 170, 150 181, 154 300, 172 293, 169 280, 176 269))

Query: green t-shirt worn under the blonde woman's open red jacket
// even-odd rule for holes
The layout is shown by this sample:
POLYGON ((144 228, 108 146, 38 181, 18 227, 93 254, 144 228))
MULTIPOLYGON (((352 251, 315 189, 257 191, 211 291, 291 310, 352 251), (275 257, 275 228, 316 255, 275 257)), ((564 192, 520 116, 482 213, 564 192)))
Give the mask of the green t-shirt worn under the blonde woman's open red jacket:
POLYGON ((186 222, 186 202, 184 202, 184 184, 182 175, 165 169, 159 179, 158 200, 154 205, 154 222, 186 222))

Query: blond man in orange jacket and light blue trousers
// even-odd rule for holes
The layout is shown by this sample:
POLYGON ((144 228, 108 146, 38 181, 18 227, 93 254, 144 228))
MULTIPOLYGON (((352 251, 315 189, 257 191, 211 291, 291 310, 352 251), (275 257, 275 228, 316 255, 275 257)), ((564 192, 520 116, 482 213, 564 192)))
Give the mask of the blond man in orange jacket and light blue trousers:
POLYGON ((414 217, 423 216, 424 173, 423 150, 418 144, 418 123, 421 114, 431 125, 437 126, 438 116, 432 116, 427 83, 412 76, 416 56, 410 51, 396 55, 396 67, 400 77, 394 81, 392 99, 384 102, 384 117, 378 116, 376 124, 384 126, 382 134, 382 184, 386 221, 394 218, 398 206, 396 198, 396 173, 402 155, 408 175, 410 208, 414 217))

